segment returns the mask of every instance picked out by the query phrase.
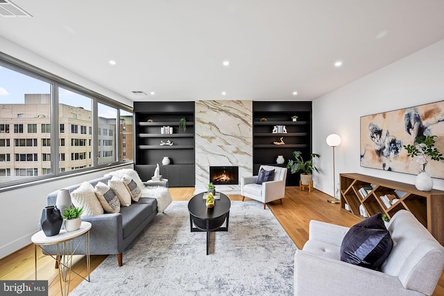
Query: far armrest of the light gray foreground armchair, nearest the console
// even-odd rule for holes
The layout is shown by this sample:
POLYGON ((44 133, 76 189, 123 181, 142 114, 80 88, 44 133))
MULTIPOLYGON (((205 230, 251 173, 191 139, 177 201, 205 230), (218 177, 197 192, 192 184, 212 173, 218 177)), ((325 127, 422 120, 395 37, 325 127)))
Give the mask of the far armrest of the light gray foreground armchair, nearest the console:
POLYGON ((341 247, 342 240, 348 232, 348 229, 350 228, 311 220, 309 225, 309 239, 341 247))

